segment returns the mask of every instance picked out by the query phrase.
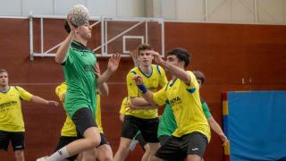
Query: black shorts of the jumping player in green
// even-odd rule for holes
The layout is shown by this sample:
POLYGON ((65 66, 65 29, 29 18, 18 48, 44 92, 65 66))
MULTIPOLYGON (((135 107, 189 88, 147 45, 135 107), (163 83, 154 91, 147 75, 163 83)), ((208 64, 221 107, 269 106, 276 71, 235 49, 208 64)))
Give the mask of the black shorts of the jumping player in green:
POLYGON ((97 127, 94 114, 92 114, 88 107, 83 107, 76 111, 72 115, 71 120, 77 128, 79 137, 83 137, 84 131, 86 131, 88 128, 97 127))

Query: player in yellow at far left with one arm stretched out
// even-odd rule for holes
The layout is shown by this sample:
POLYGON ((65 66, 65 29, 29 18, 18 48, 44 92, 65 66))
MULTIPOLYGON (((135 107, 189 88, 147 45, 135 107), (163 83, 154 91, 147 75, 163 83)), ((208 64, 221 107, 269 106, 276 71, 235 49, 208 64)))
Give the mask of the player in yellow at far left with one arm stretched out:
POLYGON ((9 86, 8 72, 0 69, 0 149, 7 151, 11 141, 17 161, 25 160, 25 127, 21 100, 58 106, 57 102, 32 95, 19 86, 9 86))

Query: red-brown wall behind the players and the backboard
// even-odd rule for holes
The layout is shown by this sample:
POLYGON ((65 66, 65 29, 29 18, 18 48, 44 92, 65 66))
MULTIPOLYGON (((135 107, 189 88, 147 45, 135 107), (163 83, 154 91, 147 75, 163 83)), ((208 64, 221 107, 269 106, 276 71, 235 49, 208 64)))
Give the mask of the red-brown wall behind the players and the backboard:
MULTIPOLYGON (((61 42, 66 34, 63 20, 45 20, 44 24, 46 50, 61 42)), ((34 47, 39 52, 39 21, 34 21, 34 29, 34 47)), ((151 32, 158 34, 154 30, 151 32)), ((189 50, 189 69, 206 74, 201 95, 206 99, 215 120, 221 124, 223 91, 286 89, 285 33, 285 26, 165 22, 164 41, 166 51, 172 47, 189 50)), ((92 34, 88 46, 95 48, 100 44, 100 27, 95 27, 92 34)), ((20 85, 40 97, 57 100, 55 87, 63 81, 62 67, 55 64, 54 58, 37 57, 29 61, 29 21, 0 19, 0 35, 0 68, 8 70, 10 83, 20 85)), ((121 41, 122 38, 115 41, 110 50, 121 50, 121 41), (117 46, 120 49, 117 50, 117 46)), ((154 39, 150 41, 152 44, 156 42, 154 39)), ((107 59, 98 58, 98 61, 101 71, 104 71, 107 59)), ((132 66, 130 58, 122 58, 118 71, 108 81, 110 96, 102 97, 105 135, 114 153, 121 135, 119 108, 127 94, 125 76, 132 66)), ((24 102, 22 111, 26 123, 26 160, 50 154, 63 125, 63 107, 24 102)), ((142 153, 140 148, 136 148, 128 160, 139 160, 142 153)), ((1 151, 0 160, 3 159, 13 160, 12 151, 1 151)), ((205 160, 223 160, 222 142, 214 131, 205 160)))

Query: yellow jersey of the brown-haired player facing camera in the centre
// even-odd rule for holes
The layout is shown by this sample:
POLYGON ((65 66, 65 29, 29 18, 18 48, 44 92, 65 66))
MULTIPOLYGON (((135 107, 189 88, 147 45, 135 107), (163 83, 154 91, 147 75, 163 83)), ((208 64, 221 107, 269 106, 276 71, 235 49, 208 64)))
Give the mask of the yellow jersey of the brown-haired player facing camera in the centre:
MULTIPOLYGON (((147 76, 139 67, 135 67, 128 72, 126 81, 127 81, 127 90, 128 90, 128 97, 142 97, 141 92, 136 86, 135 80, 133 80, 134 75, 140 75, 143 78, 144 84, 147 89, 156 92, 158 87, 164 87, 167 83, 167 78, 164 72, 164 69, 159 66, 152 64, 152 73, 147 76)), ((143 119, 152 119, 158 116, 157 108, 154 109, 142 109, 142 110, 130 110, 126 111, 127 115, 133 115, 135 117, 143 118, 143 119)))

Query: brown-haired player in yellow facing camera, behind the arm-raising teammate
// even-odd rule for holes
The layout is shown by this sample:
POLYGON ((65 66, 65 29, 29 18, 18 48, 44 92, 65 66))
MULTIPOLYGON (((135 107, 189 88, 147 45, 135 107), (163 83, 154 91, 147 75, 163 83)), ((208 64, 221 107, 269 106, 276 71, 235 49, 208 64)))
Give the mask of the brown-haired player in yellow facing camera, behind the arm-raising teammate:
MULTIPOLYGON (((139 54, 139 67, 131 69, 126 77, 128 97, 130 97, 130 102, 135 106, 154 105, 150 105, 141 96, 133 80, 134 75, 141 75, 147 88, 154 92, 157 91, 158 87, 163 87, 167 82, 164 69, 159 65, 152 64, 153 56, 150 54, 151 50, 152 47, 147 44, 139 45, 137 50, 139 54)), ((127 111, 122 123, 122 137, 119 148, 114 156, 114 161, 122 161, 127 157, 130 142, 138 131, 141 131, 144 140, 149 144, 149 157, 154 156, 157 148, 159 148, 159 141, 156 137, 158 123, 159 119, 156 108, 127 111)))

